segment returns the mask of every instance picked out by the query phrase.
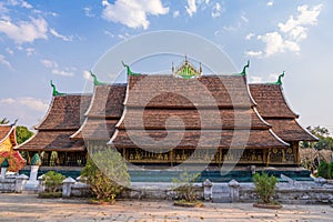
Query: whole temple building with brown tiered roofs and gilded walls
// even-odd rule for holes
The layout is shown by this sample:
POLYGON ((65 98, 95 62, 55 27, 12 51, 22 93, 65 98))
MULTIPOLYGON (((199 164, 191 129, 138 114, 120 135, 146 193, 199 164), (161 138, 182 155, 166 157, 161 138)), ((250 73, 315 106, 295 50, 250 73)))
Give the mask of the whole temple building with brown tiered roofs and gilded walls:
MULTIPOLYGON (((131 71, 127 83, 94 78, 92 95, 63 94, 53 87, 38 133, 18 150, 43 165, 84 165, 90 147, 115 148, 130 163, 300 165, 304 130, 278 82, 249 84, 238 74, 205 75, 185 58, 171 74, 131 71), (88 150, 87 150, 88 148, 88 150)), ((29 162, 29 161, 28 161, 29 162)))

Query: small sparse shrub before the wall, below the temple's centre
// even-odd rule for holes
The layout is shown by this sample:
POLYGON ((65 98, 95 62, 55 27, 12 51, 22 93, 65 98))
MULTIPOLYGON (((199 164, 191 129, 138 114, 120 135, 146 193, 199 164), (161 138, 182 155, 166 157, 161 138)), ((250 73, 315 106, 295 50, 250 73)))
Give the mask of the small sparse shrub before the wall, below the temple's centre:
POLYGON ((174 184, 174 192, 178 199, 186 201, 186 202, 196 202, 196 189, 192 184, 198 178, 200 173, 190 173, 189 171, 184 171, 180 174, 180 178, 173 178, 172 183, 174 184))

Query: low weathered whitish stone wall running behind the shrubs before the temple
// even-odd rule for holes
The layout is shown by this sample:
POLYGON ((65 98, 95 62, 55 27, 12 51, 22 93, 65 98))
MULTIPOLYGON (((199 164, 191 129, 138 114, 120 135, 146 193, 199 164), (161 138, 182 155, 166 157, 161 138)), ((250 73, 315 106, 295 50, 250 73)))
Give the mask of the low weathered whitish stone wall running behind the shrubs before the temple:
MULTIPOLYGON (((332 204, 333 203, 333 181, 314 179, 311 182, 297 182, 284 176, 284 183, 278 183, 274 199, 280 203, 291 204, 332 204)), ((0 192, 20 193, 24 191, 29 178, 21 175, 7 175, 0 178, 0 192)), ((62 183, 63 198, 88 198, 91 190, 84 178, 67 178, 62 183)), ((213 202, 254 202, 258 195, 254 192, 253 183, 238 183, 232 180, 229 183, 212 183, 209 180, 203 183, 194 183, 199 199, 213 202)), ((38 178, 38 189, 36 192, 44 191, 42 175, 38 178)), ((171 183, 132 183, 130 189, 125 189, 121 195, 123 199, 151 199, 151 200, 173 200, 176 199, 171 183)))

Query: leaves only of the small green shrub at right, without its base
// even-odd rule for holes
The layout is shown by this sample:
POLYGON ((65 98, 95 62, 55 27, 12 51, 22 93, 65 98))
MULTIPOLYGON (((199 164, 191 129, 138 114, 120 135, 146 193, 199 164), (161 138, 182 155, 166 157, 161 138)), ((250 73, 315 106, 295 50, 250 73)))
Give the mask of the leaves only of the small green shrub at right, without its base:
POLYGON ((253 175, 254 189, 259 198, 264 204, 273 203, 273 195, 275 193, 276 178, 274 175, 269 176, 268 173, 255 173, 253 175))

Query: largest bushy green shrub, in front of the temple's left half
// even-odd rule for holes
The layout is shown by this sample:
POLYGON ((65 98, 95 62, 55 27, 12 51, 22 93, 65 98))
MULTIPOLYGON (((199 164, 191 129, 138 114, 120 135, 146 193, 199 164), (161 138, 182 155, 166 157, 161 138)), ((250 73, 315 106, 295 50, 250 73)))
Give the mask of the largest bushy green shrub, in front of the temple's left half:
POLYGON ((94 152, 81 175, 88 178, 88 184, 97 200, 113 202, 124 186, 130 185, 130 174, 125 162, 119 152, 110 148, 94 152))

